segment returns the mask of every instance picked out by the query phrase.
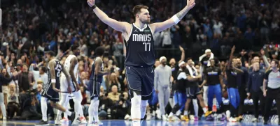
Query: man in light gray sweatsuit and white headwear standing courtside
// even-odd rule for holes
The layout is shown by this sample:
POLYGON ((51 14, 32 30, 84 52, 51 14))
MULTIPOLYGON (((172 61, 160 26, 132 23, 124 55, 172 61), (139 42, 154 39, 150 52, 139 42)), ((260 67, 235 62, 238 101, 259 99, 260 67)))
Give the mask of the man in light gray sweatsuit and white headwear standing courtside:
POLYGON ((155 68, 155 92, 158 93, 158 102, 160 103, 160 113, 162 113, 162 120, 167 120, 165 116, 165 107, 168 104, 170 97, 172 70, 167 65, 167 58, 160 57, 160 65, 155 68))

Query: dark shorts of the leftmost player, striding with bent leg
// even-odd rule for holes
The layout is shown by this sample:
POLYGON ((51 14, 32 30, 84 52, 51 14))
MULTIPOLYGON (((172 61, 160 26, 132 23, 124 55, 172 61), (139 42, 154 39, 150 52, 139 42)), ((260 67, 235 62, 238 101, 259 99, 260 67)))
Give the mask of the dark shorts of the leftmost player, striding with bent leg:
POLYGON ((59 102, 59 93, 52 89, 52 84, 43 90, 42 96, 48 98, 52 102, 59 102))

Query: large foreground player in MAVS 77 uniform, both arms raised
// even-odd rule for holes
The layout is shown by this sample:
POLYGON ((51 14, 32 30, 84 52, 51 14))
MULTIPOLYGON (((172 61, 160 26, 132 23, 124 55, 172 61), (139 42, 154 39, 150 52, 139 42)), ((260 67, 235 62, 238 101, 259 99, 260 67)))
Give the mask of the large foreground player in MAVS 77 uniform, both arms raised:
POLYGON ((95 4, 95 0, 87 0, 94 13, 102 22, 108 24, 125 36, 126 46, 126 77, 131 96, 131 117, 134 126, 141 125, 146 113, 148 99, 152 96, 155 64, 153 34, 164 31, 180 22, 188 11, 195 6, 195 0, 188 0, 183 10, 165 22, 150 24, 148 7, 134 6, 135 23, 118 22, 106 15, 95 4), (140 114, 139 114, 140 113, 140 114))

